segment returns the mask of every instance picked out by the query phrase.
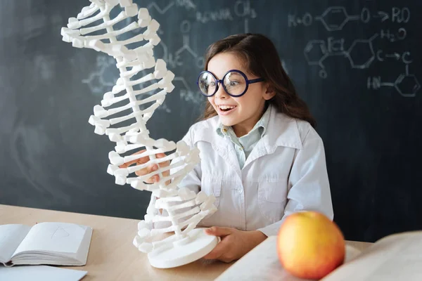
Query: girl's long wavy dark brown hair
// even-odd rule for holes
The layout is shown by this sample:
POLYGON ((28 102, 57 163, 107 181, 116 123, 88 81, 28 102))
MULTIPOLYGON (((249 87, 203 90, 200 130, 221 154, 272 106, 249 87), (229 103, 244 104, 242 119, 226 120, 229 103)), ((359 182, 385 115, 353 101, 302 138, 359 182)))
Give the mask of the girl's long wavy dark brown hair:
MULTIPOLYGON (((284 71, 276 47, 262 34, 235 34, 221 39, 207 48, 205 70, 210 60, 217 53, 231 52, 239 55, 251 74, 262 77, 274 89, 276 95, 267 103, 276 107, 278 112, 305 120, 313 127, 316 121, 309 112, 305 101, 296 93, 292 81, 284 71)), ((207 101, 203 120, 217 115, 207 101)))

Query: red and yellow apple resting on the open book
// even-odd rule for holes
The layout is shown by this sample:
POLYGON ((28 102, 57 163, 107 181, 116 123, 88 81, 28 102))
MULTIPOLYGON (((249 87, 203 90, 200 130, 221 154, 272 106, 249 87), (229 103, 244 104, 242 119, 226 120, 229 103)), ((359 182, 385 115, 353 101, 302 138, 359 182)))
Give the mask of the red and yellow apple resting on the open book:
POLYGON ((277 235, 281 266, 296 277, 321 279, 345 260, 345 238, 324 214, 300 211, 290 214, 277 235))

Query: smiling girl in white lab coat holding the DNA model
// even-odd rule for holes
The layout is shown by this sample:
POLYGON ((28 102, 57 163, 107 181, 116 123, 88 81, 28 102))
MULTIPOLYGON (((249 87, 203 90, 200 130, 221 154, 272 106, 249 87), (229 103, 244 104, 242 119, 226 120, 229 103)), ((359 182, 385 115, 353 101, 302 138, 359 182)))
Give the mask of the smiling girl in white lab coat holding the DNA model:
POLYGON ((198 86, 205 115, 183 140, 200 150, 201 162, 179 186, 216 197, 217 211, 200 225, 221 242, 205 259, 241 258, 293 212, 333 219, 323 142, 267 37, 237 34, 212 44, 198 86))

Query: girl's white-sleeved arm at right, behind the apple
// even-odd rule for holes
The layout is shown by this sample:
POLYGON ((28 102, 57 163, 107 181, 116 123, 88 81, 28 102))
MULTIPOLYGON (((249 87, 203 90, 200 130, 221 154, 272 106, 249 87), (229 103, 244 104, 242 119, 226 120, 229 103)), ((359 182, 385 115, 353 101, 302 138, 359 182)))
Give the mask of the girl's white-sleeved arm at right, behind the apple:
POLYGON ((333 220, 330 185, 326 169, 324 144, 318 133, 310 128, 303 148, 297 150, 288 181, 287 204, 283 218, 260 228, 265 235, 277 235, 286 217, 297 211, 320 211, 333 220))

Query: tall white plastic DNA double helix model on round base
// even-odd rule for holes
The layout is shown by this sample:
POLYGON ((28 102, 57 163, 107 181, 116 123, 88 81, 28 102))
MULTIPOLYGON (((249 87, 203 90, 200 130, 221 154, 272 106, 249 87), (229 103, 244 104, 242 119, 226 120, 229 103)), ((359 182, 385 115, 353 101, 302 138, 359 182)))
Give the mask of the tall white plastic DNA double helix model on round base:
POLYGON ((152 192, 144 221, 139 222, 134 245, 139 251, 148 253, 151 266, 156 268, 171 268, 196 261, 218 243, 217 237, 205 235, 203 230, 196 228, 202 218, 216 211, 213 204, 215 197, 207 196, 204 192, 196 194, 188 188, 177 187, 184 176, 199 162, 199 152, 196 148, 189 148, 183 141, 176 144, 165 139, 153 140, 149 138, 149 131, 146 129, 148 119, 162 104, 165 95, 174 89, 172 84, 174 74, 167 70, 164 60, 155 61, 153 55, 153 47, 160 42, 156 33, 159 24, 151 19, 146 8, 138 8, 132 0, 89 1, 91 5, 82 8, 77 18, 69 18, 68 27, 63 27, 61 34, 63 41, 72 42, 74 47, 93 48, 112 55, 117 61, 120 78, 117 79, 112 91, 104 94, 101 100, 102 106, 94 106, 94 115, 89 118, 89 123, 95 126, 95 133, 106 134, 110 141, 116 143, 115 151, 109 153, 111 164, 107 170, 109 174, 115 176, 115 183, 119 185, 129 183, 138 190, 152 192), (115 18, 110 19, 110 11, 119 4, 123 10, 115 18), (126 27, 120 30, 113 29, 113 25, 123 20, 127 22, 132 17, 137 18, 126 27), (96 25, 98 21, 100 23, 96 25), (130 39, 117 40, 116 37, 120 34, 136 29, 145 30, 137 35, 132 33, 130 39), (87 35, 92 32, 97 34, 87 35), (136 48, 128 48, 141 41, 146 43, 139 44, 136 48), (136 79, 137 74, 148 70, 149 74, 136 79), (142 84, 146 82, 152 84, 143 87, 142 84), (139 90, 134 90, 135 86, 139 90), (154 93, 157 89, 159 91, 154 93), (141 96, 144 98, 137 99, 141 96), (116 106, 117 103, 125 104, 116 106), (104 107, 110 108, 106 110, 104 107), (110 118, 119 114, 121 116, 110 118), (132 124, 111 127, 131 119, 135 119, 132 124), (142 148, 146 151, 134 155, 133 152, 142 148), (157 153, 166 152, 172 153, 162 158, 155 157, 157 153), (146 156, 150 161, 145 164, 120 168, 124 163, 146 156), (129 174, 147 166, 169 160, 170 166, 160 167, 145 176, 129 177, 129 174), (170 176, 163 176, 164 171, 170 171, 170 176), (158 183, 144 183, 157 174, 160 176, 158 183), (166 185, 167 181, 170 181, 170 184, 166 185), (162 213, 159 209, 163 210, 162 213), (167 223, 167 226, 162 226, 162 223, 167 223), (162 233, 169 232, 174 232, 174 235, 154 241, 157 240, 154 238, 160 237, 162 233))

